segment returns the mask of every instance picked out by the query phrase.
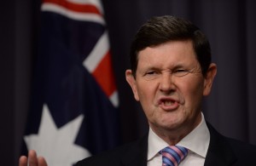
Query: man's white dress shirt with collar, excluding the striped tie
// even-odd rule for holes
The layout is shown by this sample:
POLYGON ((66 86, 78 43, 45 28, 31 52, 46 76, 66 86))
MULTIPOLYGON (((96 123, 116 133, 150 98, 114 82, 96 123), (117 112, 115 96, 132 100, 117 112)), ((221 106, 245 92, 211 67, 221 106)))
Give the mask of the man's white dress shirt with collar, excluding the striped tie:
MULTIPOLYGON (((201 113, 201 123, 177 143, 177 146, 188 148, 188 156, 183 159, 179 166, 203 166, 207 156, 207 150, 210 143, 210 132, 207 123, 201 113)), ((162 156, 160 150, 169 146, 158 135, 149 129, 148 134, 148 166, 161 166, 162 156)))

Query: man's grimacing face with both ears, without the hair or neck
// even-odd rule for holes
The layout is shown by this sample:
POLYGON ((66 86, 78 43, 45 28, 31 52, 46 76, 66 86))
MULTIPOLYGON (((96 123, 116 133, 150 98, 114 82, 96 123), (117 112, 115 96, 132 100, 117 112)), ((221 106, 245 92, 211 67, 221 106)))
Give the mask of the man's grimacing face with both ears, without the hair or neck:
POLYGON ((155 131, 194 129, 201 122, 201 100, 210 93, 216 73, 203 77, 191 41, 164 43, 139 52, 136 78, 126 71, 136 100, 155 131))

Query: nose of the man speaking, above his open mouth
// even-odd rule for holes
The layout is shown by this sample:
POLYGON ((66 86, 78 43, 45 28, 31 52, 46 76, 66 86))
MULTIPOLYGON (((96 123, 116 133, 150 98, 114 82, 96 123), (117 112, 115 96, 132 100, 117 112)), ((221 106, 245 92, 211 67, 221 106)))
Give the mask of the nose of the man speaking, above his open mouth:
POLYGON ((170 93, 175 89, 175 85, 172 80, 172 74, 170 72, 162 73, 160 78, 159 89, 160 91, 165 93, 170 93))

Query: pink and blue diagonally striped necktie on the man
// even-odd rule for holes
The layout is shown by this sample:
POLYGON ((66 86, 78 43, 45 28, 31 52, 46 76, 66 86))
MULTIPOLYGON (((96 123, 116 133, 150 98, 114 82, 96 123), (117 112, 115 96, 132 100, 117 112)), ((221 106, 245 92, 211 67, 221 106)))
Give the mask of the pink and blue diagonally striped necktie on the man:
POLYGON ((162 166, 177 166, 188 154, 188 149, 183 146, 167 146, 160 151, 162 154, 162 166))

